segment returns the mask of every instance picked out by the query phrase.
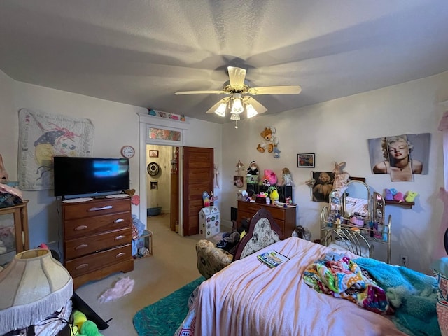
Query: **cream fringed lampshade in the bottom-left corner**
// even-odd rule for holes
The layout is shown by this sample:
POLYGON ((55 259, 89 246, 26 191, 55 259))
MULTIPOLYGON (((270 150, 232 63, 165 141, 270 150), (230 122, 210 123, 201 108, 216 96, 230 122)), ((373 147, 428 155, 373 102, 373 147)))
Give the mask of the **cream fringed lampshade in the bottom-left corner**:
POLYGON ((0 272, 0 335, 42 321, 69 302, 73 280, 45 249, 15 255, 0 272))

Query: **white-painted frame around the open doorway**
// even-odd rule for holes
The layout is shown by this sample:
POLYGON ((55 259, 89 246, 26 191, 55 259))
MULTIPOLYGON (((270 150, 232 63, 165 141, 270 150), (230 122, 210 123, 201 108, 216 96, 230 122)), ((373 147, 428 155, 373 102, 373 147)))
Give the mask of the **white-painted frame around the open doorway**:
MULTIPOLYGON (((146 195, 146 145, 162 145, 162 146, 184 146, 184 131, 190 128, 190 123, 187 121, 172 120, 168 118, 161 118, 157 116, 150 116, 145 113, 137 113, 139 116, 139 193, 140 193, 140 221, 145 224, 146 221, 146 204, 148 195, 146 195), (174 130, 181 132, 179 141, 151 139, 148 130, 150 127, 162 128, 167 130, 174 130), (142 205, 143 204, 143 205, 142 205)), ((183 223, 183 204, 181 202, 181 195, 183 195, 183 162, 181 155, 179 155, 179 223, 183 223)), ((183 225, 179 225, 179 235, 183 236, 183 225)))

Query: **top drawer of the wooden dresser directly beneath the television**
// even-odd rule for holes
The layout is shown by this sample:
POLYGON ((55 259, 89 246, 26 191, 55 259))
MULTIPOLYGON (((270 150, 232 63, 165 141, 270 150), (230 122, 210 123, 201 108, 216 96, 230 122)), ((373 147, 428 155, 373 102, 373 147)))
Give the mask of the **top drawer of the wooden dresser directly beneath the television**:
POLYGON ((131 211, 131 202, 129 197, 123 199, 104 198, 81 203, 64 203, 64 221, 76 218, 86 218, 100 216, 104 214, 113 214, 116 212, 131 211))

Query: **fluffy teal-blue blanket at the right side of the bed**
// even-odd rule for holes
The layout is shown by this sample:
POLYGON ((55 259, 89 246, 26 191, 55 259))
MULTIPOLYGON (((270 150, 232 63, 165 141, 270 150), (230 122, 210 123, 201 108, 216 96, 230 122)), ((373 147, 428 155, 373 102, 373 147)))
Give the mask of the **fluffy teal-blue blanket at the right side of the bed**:
POLYGON ((392 320, 398 329, 415 336, 440 335, 435 277, 369 258, 357 258, 355 262, 386 291, 396 309, 392 320))

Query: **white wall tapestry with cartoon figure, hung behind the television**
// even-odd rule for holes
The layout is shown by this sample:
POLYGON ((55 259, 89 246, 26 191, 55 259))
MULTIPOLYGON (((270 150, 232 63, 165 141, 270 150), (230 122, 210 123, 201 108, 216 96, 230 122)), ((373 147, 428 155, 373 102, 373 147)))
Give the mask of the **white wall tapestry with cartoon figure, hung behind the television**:
POLYGON ((22 190, 53 188, 55 155, 92 155, 94 125, 90 119, 20 109, 19 127, 18 180, 22 190))

